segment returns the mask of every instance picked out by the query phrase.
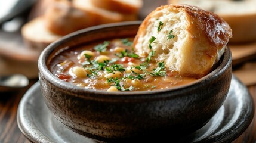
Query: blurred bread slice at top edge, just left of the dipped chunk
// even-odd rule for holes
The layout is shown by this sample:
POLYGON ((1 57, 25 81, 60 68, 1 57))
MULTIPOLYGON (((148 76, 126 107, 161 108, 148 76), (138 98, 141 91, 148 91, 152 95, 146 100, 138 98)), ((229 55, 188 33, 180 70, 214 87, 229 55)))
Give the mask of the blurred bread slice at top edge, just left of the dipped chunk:
POLYGON ((90 0, 93 5, 123 14, 137 14, 143 5, 142 0, 90 0))

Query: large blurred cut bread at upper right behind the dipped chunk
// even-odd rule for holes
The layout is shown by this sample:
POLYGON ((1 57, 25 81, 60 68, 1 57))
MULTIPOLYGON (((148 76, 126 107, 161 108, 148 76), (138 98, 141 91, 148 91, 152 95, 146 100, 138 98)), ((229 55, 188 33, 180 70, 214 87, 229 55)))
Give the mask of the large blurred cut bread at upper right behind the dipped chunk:
POLYGON ((233 30, 230 43, 256 41, 256 0, 168 0, 168 3, 196 5, 218 14, 233 30))

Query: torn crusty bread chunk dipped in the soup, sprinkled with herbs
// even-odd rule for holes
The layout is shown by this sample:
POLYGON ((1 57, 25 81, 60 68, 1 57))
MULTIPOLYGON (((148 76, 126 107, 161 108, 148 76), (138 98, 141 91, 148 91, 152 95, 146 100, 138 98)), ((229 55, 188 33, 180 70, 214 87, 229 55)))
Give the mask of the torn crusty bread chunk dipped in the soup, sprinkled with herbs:
POLYGON ((155 51, 155 60, 164 61, 169 70, 202 77, 220 59, 231 37, 232 29, 214 13, 189 5, 164 5, 144 19, 134 50, 143 57, 155 51))

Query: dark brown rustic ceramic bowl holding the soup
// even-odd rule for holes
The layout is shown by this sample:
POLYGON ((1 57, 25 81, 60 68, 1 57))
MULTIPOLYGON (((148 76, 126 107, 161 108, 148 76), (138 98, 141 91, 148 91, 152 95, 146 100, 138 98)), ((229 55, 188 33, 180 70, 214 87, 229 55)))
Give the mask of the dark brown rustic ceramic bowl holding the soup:
POLYGON ((192 133, 223 105, 232 77, 226 48, 220 64, 196 82, 156 91, 106 92, 79 88, 48 69, 60 51, 81 43, 135 36, 140 21, 91 27, 64 36, 39 57, 42 95, 50 111, 74 132, 100 141, 159 139, 192 133))

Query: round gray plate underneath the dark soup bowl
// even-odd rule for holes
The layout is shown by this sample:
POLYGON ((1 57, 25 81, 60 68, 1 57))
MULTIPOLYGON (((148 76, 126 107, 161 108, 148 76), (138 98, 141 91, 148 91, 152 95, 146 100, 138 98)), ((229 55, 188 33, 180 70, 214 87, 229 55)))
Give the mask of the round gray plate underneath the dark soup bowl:
MULTIPOLYGON (((192 135, 176 142, 231 142, 251 123, 254 104, 248 89, 233 76, 224 105, 214 117, 192 135)), ((30 88, 18 106, 18 126, 32 142, 95 142, 65 128, 44 103, 39 82, 30 88)))

